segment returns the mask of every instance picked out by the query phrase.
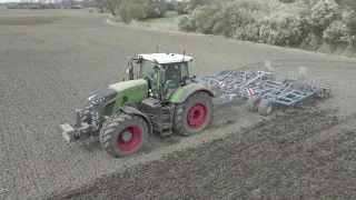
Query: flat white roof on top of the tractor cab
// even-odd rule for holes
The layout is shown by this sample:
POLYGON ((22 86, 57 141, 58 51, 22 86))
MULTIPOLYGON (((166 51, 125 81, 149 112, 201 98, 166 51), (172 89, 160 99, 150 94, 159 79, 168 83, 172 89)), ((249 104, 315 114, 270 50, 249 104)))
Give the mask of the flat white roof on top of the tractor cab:
POLYGON ((149 54, 139 54, 145 60, 157 60, 158 63, 176 63, 176 62, 187 62, 191 61, 192 58, 184 54, 178 53, 149 53, 149 54))

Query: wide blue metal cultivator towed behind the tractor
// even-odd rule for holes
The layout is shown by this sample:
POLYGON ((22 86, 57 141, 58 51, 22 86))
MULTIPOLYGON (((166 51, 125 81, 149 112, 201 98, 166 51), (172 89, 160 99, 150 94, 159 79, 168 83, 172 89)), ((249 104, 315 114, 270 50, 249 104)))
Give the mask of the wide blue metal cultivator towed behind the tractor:
MULTIPOLYGON (((299 73, 301 70, 306 68, 300 68, 299 73)), ((215 91, 217 106, 246 101, 248 111, 261 116, 270 114, 274 104, 288 107, 310 97, 326 98, 330 91, 329 86, 307 83, 304 74, 278 82, 276 74, 271 73, 270 62, 266 62, 265 69, 257 73, 244 69, 225 70, 197 81, 215 91)))

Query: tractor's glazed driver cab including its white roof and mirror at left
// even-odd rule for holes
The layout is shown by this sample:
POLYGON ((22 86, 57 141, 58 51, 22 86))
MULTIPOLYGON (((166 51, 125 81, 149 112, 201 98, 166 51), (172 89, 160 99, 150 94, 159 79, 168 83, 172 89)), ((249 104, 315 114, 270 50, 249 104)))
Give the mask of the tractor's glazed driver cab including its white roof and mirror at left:
MULTIPOLYGON (((145 79, 149 84, 149 96, 160 101, 167 101, 176 89, 189 78, 191 57, 177 53, 139 54, 138 79, 145 79)), ((132 68, 128 69, 129 79, 134 78, 132 68), (132 73, 130 76, 130 73, 132 73)))

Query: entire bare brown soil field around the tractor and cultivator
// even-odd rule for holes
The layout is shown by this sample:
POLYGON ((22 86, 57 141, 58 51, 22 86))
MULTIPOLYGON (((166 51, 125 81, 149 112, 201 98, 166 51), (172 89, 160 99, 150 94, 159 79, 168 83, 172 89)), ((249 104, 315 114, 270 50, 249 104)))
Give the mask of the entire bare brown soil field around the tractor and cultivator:
POLYGON ((88 10, 0 10, 0 199, 355 199, 354 59, 106 20, 88 10), (96 139, 67 144, 59 124, 72 123, 93 90, 118 82, 127 60, 156 44, 160 52, 187 49, 196 76, 263 69, 265 60, 279 74, 308 67, 310 80, 333 86, 332 96, 276 112, 287 112, 280 118, 221 107, 208 130, 152 137, 123 159, 96 139))

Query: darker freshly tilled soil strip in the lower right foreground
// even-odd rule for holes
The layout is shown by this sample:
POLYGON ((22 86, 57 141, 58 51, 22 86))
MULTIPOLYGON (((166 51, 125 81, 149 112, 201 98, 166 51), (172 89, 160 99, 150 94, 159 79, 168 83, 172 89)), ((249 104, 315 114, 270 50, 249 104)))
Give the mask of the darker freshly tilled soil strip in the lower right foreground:
POLYGON ((289 110, 49 199, 355 199, 356 118, 335 113, 289 110))

